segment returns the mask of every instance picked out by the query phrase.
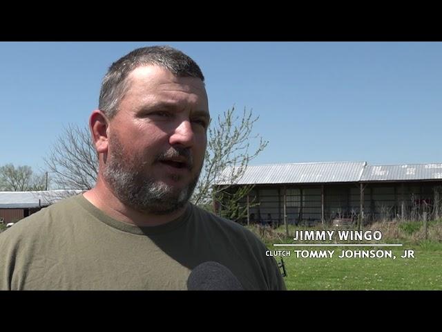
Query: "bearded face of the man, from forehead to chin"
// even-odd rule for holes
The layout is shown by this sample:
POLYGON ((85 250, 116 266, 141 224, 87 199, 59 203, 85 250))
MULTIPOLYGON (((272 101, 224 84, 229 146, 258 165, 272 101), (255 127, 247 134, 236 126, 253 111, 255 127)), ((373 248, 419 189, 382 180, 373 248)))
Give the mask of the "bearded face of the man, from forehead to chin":
POLYGON ((206 151, 209 105, 202 81, 142 66, 108 127, 104 178, 135 210, 182 208, 198 181, 206 151))

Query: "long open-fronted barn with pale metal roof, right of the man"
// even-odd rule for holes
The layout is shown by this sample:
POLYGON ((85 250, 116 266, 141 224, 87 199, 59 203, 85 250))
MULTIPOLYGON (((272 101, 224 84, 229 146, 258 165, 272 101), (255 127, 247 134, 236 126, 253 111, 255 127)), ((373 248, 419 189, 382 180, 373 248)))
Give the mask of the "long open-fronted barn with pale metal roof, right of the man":
POLYGON ((254 186, 240 201, 249 211, 241 223, 356 221, 361 211, 364 223, 394 218, 419 220, 439 218, 442 164, 258 165, 247 167, 236 183, 220 180, 217 185, 229 191, 241 185, 254 186))

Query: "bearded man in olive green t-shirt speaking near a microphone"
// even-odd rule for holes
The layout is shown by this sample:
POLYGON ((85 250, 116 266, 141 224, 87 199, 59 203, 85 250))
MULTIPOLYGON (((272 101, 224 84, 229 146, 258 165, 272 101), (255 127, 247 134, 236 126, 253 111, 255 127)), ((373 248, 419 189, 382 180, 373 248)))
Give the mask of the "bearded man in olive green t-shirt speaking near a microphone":
POLYGON ((0 288, 285 289, 257 237, 189 203, 209 120, 204 76, 179 50, 112 64, 89 121, 97 183, 0 234, 0 288))

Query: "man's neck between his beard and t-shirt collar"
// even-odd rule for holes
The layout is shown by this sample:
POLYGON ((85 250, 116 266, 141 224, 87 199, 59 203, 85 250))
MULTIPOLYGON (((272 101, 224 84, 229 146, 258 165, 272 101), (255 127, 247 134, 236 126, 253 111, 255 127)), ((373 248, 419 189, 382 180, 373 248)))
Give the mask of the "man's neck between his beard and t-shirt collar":
POLYGON ((171 214, 148 214, 139 212, 128 207, 102 181, 97 181, 93 189, 83 194, 84 198, 95 205, 96 208, 111 216, 113 219, 138 226, 157 226, 169 223, 181 216, 186 210, 186 206, 171 214))

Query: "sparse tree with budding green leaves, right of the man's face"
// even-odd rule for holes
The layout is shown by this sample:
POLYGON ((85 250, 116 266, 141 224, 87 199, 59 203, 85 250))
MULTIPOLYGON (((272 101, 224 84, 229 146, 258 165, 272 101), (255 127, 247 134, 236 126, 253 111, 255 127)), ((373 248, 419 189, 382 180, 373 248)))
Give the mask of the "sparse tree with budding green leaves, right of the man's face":
POLYGON ((204 167, 191 199, 194 204, 214 202, 220 216, 235 221, 247 216, 247 207, 238 204, 238 201, 247 196, 253 186, 230 189, 244 175, 250 160, 256 158, 268 144, 259 135, 252 135, 253 124, 258 118, 253 118, 252 111, 245 108, 242 114, 237 115, 235 107, 232 107, 211 124, 207 133, 204 167), (258 143, 256 148, 251 149, 255 139, 258 143))

